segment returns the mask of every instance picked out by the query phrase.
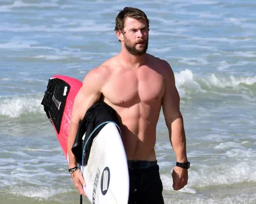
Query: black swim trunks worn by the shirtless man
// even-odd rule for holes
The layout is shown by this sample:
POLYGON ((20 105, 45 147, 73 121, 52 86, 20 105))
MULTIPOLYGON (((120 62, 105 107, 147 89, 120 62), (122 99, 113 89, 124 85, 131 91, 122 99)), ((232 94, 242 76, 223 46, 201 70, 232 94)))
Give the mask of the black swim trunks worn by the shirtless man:
POLYGON ((128 160, 130 189, 128 204, 164 204, 157 162, 128 160))

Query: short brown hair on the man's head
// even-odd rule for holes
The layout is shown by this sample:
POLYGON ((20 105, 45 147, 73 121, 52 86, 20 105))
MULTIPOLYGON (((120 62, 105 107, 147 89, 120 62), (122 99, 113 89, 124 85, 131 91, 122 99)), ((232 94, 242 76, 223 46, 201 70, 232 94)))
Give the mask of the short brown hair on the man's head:
POLYGON ((119 14, 116 17, 115 31, 120 30, 121 32, 123 32, 123 28, 125 28, 125 19, 127 17, 131 17, 134 19, 145 19, 148 24, 148 30, 150 30, 150 21, 146 13, 137 8, 125 7, 123 10, 119 12, 119 14))

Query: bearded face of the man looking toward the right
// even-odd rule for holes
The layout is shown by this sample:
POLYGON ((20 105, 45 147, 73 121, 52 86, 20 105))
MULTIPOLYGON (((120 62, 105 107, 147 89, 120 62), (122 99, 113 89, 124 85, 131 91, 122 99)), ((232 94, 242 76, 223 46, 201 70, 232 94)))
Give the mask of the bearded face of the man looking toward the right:
POLYGON ((125 19, 123 29, 124 44, 128 52, 135 56, 141 56, 148 50, 148 25, 146 20, 125 19))

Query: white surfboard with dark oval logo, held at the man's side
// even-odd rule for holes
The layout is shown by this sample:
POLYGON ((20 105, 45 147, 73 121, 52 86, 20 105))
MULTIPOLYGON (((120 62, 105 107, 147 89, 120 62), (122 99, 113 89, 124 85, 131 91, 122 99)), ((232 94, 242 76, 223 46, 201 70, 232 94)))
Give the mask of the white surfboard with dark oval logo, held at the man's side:
POLYGON ((92 203, 128 203, 129 176, 125 175, 129 172, 123 158, 125 149, 117 126, 107 123, 94 138, 87 166, 82 166, 84 191, 92 203))

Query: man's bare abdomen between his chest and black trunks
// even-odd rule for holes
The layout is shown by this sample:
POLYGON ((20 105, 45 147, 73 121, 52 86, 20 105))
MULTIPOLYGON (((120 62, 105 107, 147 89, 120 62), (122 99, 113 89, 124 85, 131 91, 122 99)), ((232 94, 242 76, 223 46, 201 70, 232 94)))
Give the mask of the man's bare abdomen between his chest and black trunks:
POLYGON ((160 103, 138 103, 132 107, 114 107, 119 116, 121 137, 129 160, 156 160, 156 124, 160 103))

